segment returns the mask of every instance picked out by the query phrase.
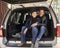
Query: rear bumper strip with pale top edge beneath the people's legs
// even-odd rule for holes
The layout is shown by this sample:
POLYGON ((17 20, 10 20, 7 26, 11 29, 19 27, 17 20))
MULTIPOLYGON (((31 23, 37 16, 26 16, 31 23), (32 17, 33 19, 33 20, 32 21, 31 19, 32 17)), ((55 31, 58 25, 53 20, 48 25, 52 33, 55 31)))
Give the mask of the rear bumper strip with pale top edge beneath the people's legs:
MULTIPOLYGON (((19 47, 18 44, 20 44, 20 41, 9 41, 9 43, 6 44, 7 47, 19 47)), ((40 41, 39 42, 39 47, 52 47, 52 41, 40 41), (49 42, 49 43, 48 43, 49 42)), ((26 42, 25 45, 22 47, 31 47, 31 41, 26 42)))

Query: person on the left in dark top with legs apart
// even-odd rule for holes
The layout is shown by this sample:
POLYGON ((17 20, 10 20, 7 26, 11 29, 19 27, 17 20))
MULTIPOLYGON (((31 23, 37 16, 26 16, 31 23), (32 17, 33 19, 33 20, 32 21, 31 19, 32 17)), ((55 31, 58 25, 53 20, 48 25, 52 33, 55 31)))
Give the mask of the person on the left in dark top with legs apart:
POLYGON ((21 44, 18 46, 22 46, 25 43, 25 35, 26 35, 26 32, 29 28, 32 28, 32 47, 34 46, 34 43, 36 41, 36 36, 38 33, 38 29, 36 27, 38 20, 37 20, 37 13, 35 10, 33 10, 31 14, 32 14, 31 18, 29 18, 27 20, 25 26, 22 27, 21 44))

